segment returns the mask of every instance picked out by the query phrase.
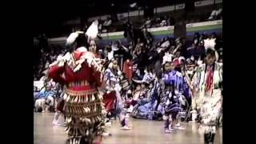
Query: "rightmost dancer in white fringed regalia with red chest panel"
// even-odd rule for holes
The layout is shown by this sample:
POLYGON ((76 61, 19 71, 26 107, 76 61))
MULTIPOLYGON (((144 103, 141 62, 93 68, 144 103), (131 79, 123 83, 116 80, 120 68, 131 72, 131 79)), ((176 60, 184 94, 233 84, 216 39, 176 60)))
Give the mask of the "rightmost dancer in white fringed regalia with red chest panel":
POLYGON ((202 102, 200 103, 200 116, 205 143, 214 143, 214 135, 218 118, 222 110, 222 64, 218 63, 218 53, 214 45, 210 46, 209 40, 205 40, 206 63, 198 66, 194 75, 194 91, 197 91, 202 102))

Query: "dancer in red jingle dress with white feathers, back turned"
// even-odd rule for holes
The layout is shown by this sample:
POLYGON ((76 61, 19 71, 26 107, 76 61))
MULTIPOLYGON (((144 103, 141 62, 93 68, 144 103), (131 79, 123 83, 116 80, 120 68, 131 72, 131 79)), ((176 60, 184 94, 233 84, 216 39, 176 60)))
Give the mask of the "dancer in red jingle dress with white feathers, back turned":
POLYGON ((76 50, 59 57, 48 71, 50 78, 65 86, 63 112, 67 122, 67 143, 91 143, 102 133, 105 112, 97 89, 102 84, 101 59, 95 58, 85 47, 87 38, 92 37, 94 34, 82 31, 70 34, 66 43, 76 50))

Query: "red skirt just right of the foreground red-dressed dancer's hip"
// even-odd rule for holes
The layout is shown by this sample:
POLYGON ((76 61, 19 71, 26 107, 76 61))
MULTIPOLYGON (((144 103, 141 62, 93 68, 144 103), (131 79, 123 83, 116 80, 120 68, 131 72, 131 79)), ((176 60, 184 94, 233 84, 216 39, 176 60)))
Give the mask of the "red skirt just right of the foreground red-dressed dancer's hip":
POLYGON ((105 103, 105 108, 107 112, 114 110, 115 101, 116 96, 114 91, 110 92, 110 94, 103 95, 103 102, 105 103))

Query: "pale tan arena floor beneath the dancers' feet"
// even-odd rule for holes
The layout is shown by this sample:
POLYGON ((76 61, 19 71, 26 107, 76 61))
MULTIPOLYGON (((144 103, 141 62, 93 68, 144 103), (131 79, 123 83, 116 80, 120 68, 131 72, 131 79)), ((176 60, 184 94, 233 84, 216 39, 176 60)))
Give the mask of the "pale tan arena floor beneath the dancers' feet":
MULTIPOLYGON (((66 133, 63 127, 53 126, 52 113, 34 113, 34 144, 64 144, 66 133)), ((130 118, 132 130, 120 130, 116 120, 110 137, 103 138, 102 144, 203 144, 203 135, 198 134, 198 124, 182 122, 186 130, 163 133, 163 122, 130 118)), ((222 130, 217 131, 214 144, 222 144, 222 130)))

